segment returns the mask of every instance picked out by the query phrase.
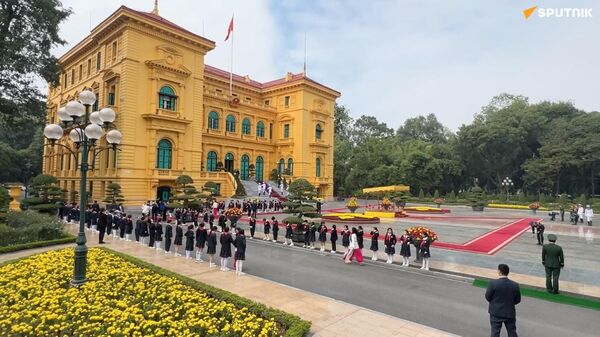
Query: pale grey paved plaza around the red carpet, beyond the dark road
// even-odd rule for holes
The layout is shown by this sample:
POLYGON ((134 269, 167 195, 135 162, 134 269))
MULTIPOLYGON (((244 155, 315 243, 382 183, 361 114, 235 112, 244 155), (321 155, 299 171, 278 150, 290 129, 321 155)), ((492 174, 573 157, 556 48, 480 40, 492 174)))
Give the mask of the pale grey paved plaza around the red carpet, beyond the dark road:
MULTIPOLYGON (((376 201, 361 201, 361 205, 376 205, 376 201)), ((411 204, 414 205, 414 204, 411 204)), ((554 233, 558 235, 557 244, 561 245, 565 252, 566 266, 561 271, 561 288, 566 292, 581 295, 600 297, 600 230, 582 224, 570 225, 569 222, 550 221, 547 212, 524 210, 504 210, 486 208, 484 212, 473 212, 466 206, 446 206, 450 213, 439 214, 409 214, 407 218, 381 219, 381 223, 375 225, 363 225, 365 233, 369 233, 373 227, 377 227, 380 233, 391 227, 396 234, 403 233, 404 229, 420 225, 434 230, 443 242, 462 244, 482 236, 494 229, 523 218, 543 219, 546 226, 545 235, 554 233), (596 239, 598 238, 598 239, 596 239)), ((345 208, 344 202, 332 201, 323 205, 324 212, 328 210, 340 211, 345 208)), ((359 208, 360 213, 364 208, 359 208)), ((140 213, 139 208, 127 210, 134 215, 140 213)), ((262 233, 262 219, 275 217, 280 222, 289 214, 265 214, 258 213, 257 233, 262 233)), ((247 217, 243 217, 239 224, 246 226, 247 217)), ((327 223, 330 227, 332 223, 327 223)), ((343 225, 337 225, 338 231, 343 225)), ((285 231, 280 231, 279 240, 283 241, 285 231)), ((364 254, 370 256, 368 242, 365 238, 364 254)), ((432 259, 430 267, 456 274, 473 277, 496 278, 496 268, 499 263, 506 263, 511 268, 511 277, 518 282, 545 288, 545 272, 541 264, 541 246, 538 246, 535 236, 530 230, 517 236, 506 246, 499 249, 493 255, 475 254, 470 252, 455 251, 436 248, 432 246, 432 259)), ((329 242, 328 242, 329 244, 329 242)), ((341 244, 341 241, 338 242, 341 244)), ((380 243, 380 247, 383 247, 380 243)), ((412 247, 414 256, 414 247, 412 247)), ((380 259, 384 259, 383 252, 379 252, 380 259)), ((401 258, 396 255, 395 261, 401 258)), ((414 264, 414 262, 413 262, 414 264)))

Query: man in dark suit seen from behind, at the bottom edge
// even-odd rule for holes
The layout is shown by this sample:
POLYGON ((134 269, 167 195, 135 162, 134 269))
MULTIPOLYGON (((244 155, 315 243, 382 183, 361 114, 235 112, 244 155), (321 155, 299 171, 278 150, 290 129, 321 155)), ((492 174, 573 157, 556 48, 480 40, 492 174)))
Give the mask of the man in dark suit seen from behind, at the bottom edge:
POLYGON ((508 337, 517 337, 517 312, 515 305, 521 302, 519 284, 508 279, 509 268, 505 264, 498 265, 497 280, 490 281, 485 292, 485 299, 490 303, 491 337, 499 337, 502 323, 506 326, 508 337))

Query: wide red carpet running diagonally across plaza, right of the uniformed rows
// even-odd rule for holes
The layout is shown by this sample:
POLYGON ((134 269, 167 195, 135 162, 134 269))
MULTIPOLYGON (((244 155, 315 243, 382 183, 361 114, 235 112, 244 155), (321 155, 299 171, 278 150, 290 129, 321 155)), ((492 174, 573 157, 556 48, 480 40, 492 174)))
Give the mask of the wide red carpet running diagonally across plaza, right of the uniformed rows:
POLYGON ((436 241, 432 246, 436 248, 460 250, 463 252, 493 255, 519 237, 523 232, 530 229, 530 222, 539 220, 540 219, 538 218, 517 220, 463 244, 436 241))

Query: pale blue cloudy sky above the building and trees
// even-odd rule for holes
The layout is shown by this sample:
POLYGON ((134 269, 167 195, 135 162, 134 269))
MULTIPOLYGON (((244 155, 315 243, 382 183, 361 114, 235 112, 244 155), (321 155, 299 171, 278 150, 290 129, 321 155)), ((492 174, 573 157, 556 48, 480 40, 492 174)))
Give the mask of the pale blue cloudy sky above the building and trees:
MULTIPOLYGON (((151 11, 153 0, 63 0, 62 55, 119 6, 151 11)), ((600 4, 594 1, 160 0, 159 14, 216 42, 205 62, 229 70, 224 42, 235 15, 233 71, 266 82, 303 69, 341 92, 354 118, 397 129, 433 113, 451 130, 492 97, 570 101, 600 110, 600 4), (594 6, 596 5, 596 6, 594 6), (522 11, 592 8, 592 18, 528 20, 522 11), (597 10, 597 12, 595 12, 597 10)))

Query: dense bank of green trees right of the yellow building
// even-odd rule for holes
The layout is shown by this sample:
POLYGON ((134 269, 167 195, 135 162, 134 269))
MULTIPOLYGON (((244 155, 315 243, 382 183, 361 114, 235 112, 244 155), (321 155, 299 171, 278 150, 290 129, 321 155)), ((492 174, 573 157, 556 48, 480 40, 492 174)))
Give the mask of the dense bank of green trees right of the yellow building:
POLYGON ((410 185, 417 194, 468 191, 594 195, 600 170, 600 113, 569 102, 529 103, 501 94, 456 133, 434 114, 407 119, 391 133, 375 117, 356 121, 335 110, 334 188, 351 195, 362 188, 410 185), (360 121, 360 122, 359 122, 360 121))

